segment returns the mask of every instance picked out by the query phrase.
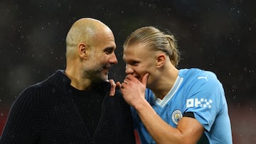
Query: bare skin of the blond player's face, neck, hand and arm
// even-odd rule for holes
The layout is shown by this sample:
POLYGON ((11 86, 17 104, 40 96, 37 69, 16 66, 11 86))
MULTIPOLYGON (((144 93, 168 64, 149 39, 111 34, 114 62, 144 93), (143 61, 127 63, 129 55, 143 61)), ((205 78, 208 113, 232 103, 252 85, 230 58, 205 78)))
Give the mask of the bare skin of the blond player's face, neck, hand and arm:
POLYGON ((157 115, 145 99, 146 87, 163 99, 174 85, 178 70, 169 57, 161 51, 149 51, 146 45, 139 43, 125 47, 123 59, 127 77, 122 84, 117 82, 117 87, 121 87, 125 101, 137 110, 156 143, 196 143, 204 131, 196 118, 183 117, 177 128, 173 128, 157 115))

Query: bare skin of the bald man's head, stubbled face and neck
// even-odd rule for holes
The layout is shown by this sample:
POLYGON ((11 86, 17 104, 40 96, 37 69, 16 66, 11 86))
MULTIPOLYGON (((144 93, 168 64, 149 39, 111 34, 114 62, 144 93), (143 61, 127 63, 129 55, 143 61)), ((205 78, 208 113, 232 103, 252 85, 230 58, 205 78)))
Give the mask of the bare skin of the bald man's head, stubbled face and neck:
MULTIPOLYGON (((93 18, 81 18, 68 32, 65 74, 76 89, 90 89, 93 83, 108 81, 108 72, 117 64, 116 44, 110 28, 93 18)), ((110 80, 114 94, 114 81, 110 80)))

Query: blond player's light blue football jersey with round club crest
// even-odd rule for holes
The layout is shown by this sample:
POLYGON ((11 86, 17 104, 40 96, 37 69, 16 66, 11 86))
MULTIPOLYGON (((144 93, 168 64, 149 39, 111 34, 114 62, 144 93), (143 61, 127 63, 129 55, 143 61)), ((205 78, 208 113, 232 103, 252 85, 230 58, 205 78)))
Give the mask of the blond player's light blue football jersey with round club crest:
MULTIPOLYGON (((146 100, 166 123, 175 128, 183 113, 193 112, 206 129, 204 133, 209 143, 233 143, 223 86, 213 72, 196 68, 179 70, 174 86, 164 99, 156 98, 146 89, 146 100)), ((133 108, 132 113, 141 143, 155 143, 133 108)))

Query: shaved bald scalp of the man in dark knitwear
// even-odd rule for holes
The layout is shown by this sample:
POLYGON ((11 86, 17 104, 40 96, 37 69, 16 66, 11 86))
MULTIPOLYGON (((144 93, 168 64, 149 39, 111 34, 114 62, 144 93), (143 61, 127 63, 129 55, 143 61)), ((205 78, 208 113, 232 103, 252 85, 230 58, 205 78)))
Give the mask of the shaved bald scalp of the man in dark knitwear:
POLYGON ((75 53, 79 43, 94 45, 95 37, 100 33, 112 33, 110 28, 94 18, 80 18, 73 23, 66 37, 67 58, 75 53))

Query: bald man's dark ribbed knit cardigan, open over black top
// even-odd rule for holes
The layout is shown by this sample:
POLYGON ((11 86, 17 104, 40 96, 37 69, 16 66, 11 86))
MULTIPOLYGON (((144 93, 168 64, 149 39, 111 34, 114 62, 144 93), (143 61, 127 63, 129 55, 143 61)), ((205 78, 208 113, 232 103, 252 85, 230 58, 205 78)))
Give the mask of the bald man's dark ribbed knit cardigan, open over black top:
POLYGON ((95 133, 90 135, 73 101, 70 79, 58 70, 18 96, 0 143, 135 143, 129 106, 119 91, 108 95, 109 90, 95 133))

